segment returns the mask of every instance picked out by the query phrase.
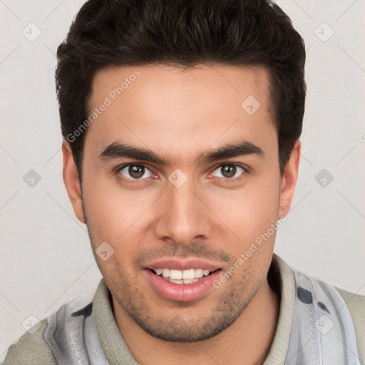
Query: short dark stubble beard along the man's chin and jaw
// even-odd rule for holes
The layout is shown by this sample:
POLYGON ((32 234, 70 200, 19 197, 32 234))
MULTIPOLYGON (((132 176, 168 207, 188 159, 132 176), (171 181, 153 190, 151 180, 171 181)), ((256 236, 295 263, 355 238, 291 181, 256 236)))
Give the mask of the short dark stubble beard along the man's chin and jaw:
POLYGON ((240 317, 257 292, 252 292, 248 299, 242 298, 247 287, 226 282, 230 287, 215 289, 222 290, 222 294, 210 314, 204 315, 207 312, 204 310, 205 304, 210 305, 212 300, 209 297, 198 303, 176 302, 175 309, 163 309, 137 283, 125 278, 119 270, 118 273, 119 279, 116 282, 113 280, 110 288, 114 307, 118 305, 146 333, 170 342, 203 341, 220 334, 240 317), (182 317, 182 312, 188 319, 182 317))

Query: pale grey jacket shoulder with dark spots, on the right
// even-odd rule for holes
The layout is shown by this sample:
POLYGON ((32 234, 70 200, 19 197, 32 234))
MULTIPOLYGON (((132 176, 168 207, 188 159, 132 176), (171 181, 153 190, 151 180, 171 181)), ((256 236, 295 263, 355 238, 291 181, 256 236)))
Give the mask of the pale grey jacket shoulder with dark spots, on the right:
POLYGON ((285 304, 281 314, 291 324, 286 336, 290 364, 305 364, 313 349, 317 359, 322 356, 329 364, 339 358, 365 364, 365 296, 292 269, 277 256, 274 262, 285 304))

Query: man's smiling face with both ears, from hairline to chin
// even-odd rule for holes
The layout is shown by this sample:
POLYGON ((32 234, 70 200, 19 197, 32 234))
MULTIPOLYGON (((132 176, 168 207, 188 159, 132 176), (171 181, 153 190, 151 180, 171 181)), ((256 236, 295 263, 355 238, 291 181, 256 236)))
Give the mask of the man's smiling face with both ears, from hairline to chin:
POLYGON ((93 81, 91 113, 108 106, 86 132, 82 196, 68 143, 63 177, 114 312, 148 334, 215 336, 267 284, 300 148, 281 177, 268 88, 264 68, 234 66, 114 67, 93 81))

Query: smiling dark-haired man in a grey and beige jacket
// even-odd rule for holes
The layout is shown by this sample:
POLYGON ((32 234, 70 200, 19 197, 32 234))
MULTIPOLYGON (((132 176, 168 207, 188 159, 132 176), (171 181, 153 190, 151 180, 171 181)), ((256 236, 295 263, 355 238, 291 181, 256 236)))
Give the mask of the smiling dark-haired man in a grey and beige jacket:
POLYGON ((5 364, 364 364, 365 297, 273 254, 302 38, 267 1, 88 1, 58 47, 63 179, 103 279, 5 364))

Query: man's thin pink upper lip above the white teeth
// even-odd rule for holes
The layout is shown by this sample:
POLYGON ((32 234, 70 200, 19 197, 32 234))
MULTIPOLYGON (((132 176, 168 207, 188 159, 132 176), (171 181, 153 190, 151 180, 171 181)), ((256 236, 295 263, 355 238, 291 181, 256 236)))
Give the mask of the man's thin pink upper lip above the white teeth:
POLYGON ((207 269, 215 271, 220 269, 218 264, 212 262, 203 261, 202 259, 186 259, 186 258, 165 258, 155 261, 151 264, 146 265, 147 269, 176 269, 176 270, 187 270, 187 269, 207 269))

